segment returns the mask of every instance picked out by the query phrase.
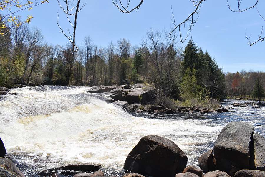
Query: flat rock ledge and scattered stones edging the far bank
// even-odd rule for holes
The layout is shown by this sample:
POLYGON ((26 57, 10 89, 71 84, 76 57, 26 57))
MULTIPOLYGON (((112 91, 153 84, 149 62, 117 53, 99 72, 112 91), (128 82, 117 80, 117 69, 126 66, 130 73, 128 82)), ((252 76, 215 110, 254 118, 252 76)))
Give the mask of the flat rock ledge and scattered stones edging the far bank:
POLYGON ((168 108, 163 105, 155 104, 155 94, 151 87, 144 84, 120 85, 120 86, 95 86, 87 92, 94 93, 99 96, 108 96, 105 101, 107 103, 117 104, 127 112, 157 114, 179 114, 188 113, 222 113, 234 112, 236 107, 253 106, 259 108, 255 102, 251 103, 234 103, 233 107, 222 107, 219 101, 212 99, 213 104, 218 105, 217 108, 201 108, 201 107, 183 107, 176 106, 168 108))

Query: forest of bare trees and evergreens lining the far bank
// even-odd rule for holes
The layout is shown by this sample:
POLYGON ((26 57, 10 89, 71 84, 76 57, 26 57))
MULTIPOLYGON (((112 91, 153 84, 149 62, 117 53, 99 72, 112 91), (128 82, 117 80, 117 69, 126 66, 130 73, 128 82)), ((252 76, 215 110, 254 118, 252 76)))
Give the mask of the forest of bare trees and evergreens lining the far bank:
MULTIPOLYGON (((3 22, 1 22, 3 24, 3 22)), ((77 52, 44 43, 38 28, 23 24, 0 40, 0 86, 72 85, 98 86, 148 83, 159 102, 226 99, 252 96, 257 78, 264 88, 265 73, 224 73, 208 51, 189 40, 183 47, 176 33, 148 30, 139 46, 118 39, 108 46, 84 37, 77 52)))

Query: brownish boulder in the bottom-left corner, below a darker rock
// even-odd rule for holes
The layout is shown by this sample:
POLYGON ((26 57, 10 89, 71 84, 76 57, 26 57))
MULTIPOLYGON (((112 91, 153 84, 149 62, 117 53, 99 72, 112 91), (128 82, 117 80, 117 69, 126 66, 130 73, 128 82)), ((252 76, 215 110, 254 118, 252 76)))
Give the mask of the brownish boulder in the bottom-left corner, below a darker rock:
POLYGON ((25 177, 21 171, 8 158, 0 157, 0 176, 3 177, 25 177))

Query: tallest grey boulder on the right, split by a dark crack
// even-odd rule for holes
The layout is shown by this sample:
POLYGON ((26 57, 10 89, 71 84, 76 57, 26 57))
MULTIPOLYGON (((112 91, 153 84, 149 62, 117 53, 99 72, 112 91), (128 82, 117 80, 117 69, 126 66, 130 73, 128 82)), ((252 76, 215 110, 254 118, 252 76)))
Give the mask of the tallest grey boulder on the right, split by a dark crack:
POLYGON ((250 169, 250 141, 254 126, 245 122, 228 123, 213 148, 217 169, 229 173, 235 167, 250 169))

